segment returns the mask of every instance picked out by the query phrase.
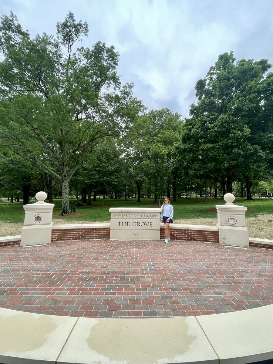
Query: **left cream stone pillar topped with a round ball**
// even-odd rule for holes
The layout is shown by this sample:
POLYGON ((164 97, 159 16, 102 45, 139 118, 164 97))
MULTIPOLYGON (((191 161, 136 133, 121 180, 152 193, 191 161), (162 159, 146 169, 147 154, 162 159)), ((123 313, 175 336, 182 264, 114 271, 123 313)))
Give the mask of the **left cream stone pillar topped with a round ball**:
POLYGON ((43 191, 35 195, 37 202, 24 205, 25 221, 21 232, 21 246, 49 244, 51 242, 52 211, 54 203, 46 203, 43 191))

